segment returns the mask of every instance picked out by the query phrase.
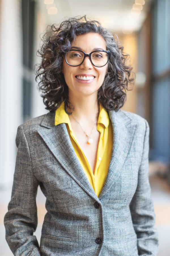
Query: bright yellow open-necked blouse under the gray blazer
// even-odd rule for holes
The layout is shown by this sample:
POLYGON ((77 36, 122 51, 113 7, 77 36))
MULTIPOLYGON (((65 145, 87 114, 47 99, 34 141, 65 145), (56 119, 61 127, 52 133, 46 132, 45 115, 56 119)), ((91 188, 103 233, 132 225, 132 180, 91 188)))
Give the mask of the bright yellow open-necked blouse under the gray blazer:
POLYGON ((104 110, 104 108, 100 108, 99 119, 97 122, 97 131, 100 132, 100 140, 97 150, 97 162, 94 174, 85 154, 80 148, 76 135, 71 128, 69 116, 64 109, 64 103, 61 104, 61 106, 56 110, 55 125, 60 123, 66 124, 76 156, 96 195, 99 196, 107 176, 113 146, 113 129, 108 113, 104 110))

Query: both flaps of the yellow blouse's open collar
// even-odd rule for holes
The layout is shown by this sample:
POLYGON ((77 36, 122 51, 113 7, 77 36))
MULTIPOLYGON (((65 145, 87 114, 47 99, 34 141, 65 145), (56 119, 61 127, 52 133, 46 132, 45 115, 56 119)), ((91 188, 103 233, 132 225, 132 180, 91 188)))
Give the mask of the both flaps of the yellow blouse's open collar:
MULTIPOLYGON (((55 115, 55 125, 59 125, 60 123, 68 123, 69 129, 70 131, 72 131, 69 115, 65 112, 64 102, 56 110, 56 115, 55 115)), ((101 106, 99 110, 99 119, 97 123, 102 123, 105 126, 105 128, 109 126, 109 115, 106 112, 106 110, 101 106)))

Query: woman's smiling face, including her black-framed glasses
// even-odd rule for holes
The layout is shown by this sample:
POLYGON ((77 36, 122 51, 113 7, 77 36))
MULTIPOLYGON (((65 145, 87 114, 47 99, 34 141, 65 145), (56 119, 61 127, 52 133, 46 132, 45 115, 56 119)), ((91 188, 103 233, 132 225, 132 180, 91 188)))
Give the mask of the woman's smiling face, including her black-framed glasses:
POLYGON ((74 40, 63 61, 63 75, 70 93, 89 95, 99 90, 107 74, 108 54, 105 40, 99 34, 88 33, 74 40), (77 48, 89 54, 73 50, 77 48))

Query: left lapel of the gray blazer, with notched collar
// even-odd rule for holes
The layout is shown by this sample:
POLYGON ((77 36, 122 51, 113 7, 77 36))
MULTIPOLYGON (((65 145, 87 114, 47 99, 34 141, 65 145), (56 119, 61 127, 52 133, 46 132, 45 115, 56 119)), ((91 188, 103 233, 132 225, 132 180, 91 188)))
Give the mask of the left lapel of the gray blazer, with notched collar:
POLYGON ((69 175, 96 201, 99 200, 76 156, 65 123, 55 126, 55 113, 45 115, 38 129, 48 148, 69 175))

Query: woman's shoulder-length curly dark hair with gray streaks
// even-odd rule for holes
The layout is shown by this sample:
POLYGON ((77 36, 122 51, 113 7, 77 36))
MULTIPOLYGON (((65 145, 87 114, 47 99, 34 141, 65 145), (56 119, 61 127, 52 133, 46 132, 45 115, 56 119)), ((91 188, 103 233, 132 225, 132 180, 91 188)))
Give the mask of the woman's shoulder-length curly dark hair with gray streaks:
POLYGON ((118 37, 111 31, 103 28, 101 23, 83 17, 70 18, 58 26, 53 24, 47 27, 47 32, 42 36, 42 46, 37 51, 41 57, 41 64, 37 65, 36 81, 42 91, 43 102, 46 109, 55 111, 62 102, 65 110, 73 110, 68 96, 68 86, 62 73, 63 57, 71 49, 71 43, 76 36, 97 33, 106 42, 109 53, 107 74, 102 86, 98 89, 98 103, 105 110, 118 110, 126 101, 126 90, 134 82, 134 73, 129 65, 129 55, 123 52, 118 37))

